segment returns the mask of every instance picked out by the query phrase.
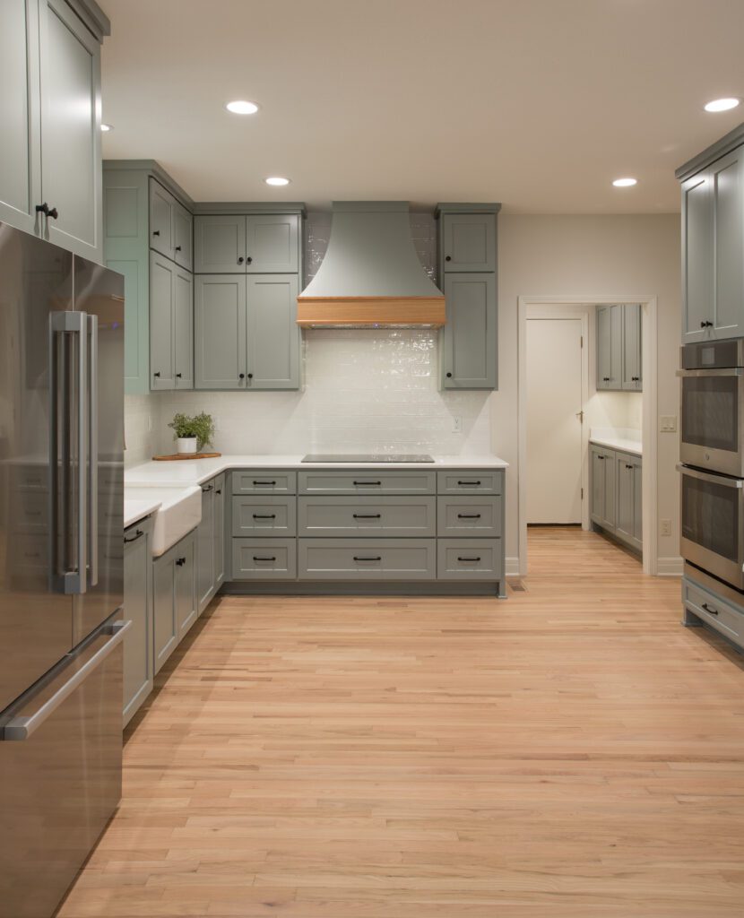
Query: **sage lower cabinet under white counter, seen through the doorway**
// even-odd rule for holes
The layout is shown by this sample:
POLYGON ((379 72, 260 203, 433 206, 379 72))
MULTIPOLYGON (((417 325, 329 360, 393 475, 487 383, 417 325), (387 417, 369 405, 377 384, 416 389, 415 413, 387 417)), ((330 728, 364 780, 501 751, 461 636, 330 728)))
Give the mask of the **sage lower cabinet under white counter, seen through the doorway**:
POLYGON ((590 445, 591 509, 595 526, 643 550, 643 462, 640 456, 590 445))

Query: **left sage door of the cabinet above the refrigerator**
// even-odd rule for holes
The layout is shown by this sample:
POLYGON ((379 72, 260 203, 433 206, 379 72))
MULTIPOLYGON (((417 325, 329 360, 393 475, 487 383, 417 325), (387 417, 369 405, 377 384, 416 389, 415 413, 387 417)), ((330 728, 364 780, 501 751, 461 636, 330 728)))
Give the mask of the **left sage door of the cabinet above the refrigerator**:
POLYGON ((39 5, 0 4, 0 220, 33 232, 41 203, 39 5))

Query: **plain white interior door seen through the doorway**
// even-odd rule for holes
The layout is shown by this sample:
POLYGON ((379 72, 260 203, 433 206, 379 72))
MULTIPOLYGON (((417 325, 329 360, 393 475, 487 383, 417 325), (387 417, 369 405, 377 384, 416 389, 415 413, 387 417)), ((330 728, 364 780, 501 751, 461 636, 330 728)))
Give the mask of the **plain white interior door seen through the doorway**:
POLYGON ((582 521, 582 320, 527 319, 527 524, 582 521))

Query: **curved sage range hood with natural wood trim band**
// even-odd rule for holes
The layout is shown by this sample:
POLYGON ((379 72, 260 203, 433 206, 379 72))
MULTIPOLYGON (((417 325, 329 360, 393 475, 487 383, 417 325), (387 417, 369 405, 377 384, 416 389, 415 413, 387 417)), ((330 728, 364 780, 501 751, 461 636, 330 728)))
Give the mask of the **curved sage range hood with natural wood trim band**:
POLYGON ((328 252, 297 297, 303 328, 439 328, 444 296, 418 260, 407 201, 334 201, 328 252))

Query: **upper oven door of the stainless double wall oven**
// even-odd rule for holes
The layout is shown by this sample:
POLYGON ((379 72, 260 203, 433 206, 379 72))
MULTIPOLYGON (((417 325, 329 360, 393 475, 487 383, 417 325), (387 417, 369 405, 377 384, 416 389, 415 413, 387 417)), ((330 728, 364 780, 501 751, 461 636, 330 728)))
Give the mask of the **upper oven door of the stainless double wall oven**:
POLYGON ((744 477, 744 370, 683 370, 680 376, 683 463, 744 477))

